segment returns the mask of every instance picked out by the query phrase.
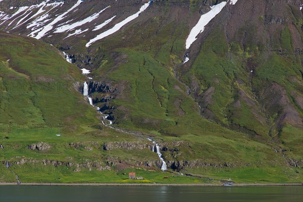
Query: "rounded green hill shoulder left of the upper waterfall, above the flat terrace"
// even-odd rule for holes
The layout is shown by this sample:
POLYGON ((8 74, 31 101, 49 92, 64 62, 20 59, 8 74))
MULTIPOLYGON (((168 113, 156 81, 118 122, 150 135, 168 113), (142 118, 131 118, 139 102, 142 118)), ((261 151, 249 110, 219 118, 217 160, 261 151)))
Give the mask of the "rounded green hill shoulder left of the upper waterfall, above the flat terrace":
POLYGON ((57 49, 1 32, 2 123, 97 123, 95 112, 73 90, 83 76, 57 49))

